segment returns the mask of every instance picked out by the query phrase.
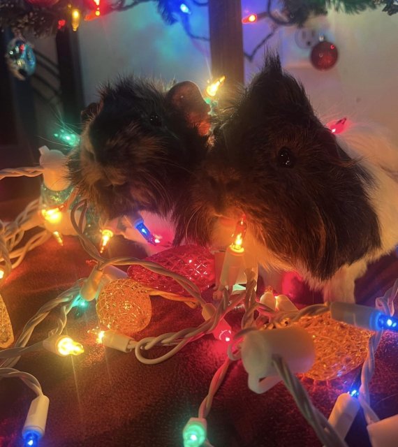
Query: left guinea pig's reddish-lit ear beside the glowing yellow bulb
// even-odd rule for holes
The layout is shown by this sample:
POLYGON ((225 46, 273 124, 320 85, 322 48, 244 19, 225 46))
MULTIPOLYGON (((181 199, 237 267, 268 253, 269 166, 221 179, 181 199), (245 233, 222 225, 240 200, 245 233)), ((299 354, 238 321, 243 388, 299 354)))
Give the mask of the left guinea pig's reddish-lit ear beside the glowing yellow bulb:
POLYGON ((207 135, 210 129, 210 106, 202 98, 196 84, 191 81, 179 82, 166 94, 166 101, 173 115, 182 115, 200 135, 207 135))

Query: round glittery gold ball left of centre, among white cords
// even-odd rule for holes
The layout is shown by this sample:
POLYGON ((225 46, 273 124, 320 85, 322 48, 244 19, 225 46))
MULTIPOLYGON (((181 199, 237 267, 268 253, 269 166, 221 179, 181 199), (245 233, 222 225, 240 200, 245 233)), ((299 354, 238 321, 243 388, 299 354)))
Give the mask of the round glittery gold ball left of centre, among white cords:
POLYGON ((116 279, 105 284, 96 304, 101 325, 126 335, 147 327, 152 316, 149 295, 131 279, 116 279))

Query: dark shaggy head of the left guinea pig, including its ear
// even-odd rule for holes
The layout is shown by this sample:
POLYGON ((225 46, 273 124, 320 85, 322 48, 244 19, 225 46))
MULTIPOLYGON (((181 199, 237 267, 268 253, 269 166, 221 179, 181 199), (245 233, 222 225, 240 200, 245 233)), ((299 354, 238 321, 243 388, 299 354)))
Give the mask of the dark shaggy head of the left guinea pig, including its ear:
POLYGON ((82 112, 71 183, 104 218, 146 210, 166 215, 207 151, 209 105, 193 82, 165 90, 126 78, 82 112))

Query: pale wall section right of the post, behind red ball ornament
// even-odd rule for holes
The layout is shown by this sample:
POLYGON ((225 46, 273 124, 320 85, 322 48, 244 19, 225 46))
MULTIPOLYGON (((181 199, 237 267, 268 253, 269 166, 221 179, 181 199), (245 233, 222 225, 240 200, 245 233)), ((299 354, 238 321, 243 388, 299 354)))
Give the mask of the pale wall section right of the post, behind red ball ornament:
MULTIPOLYGON (((253 1, 242 1, 243 8, 245 3, 253 1)), ((315 17, 309 24, 325 31, 325 36, 337 45, 339 59, 330 71, 316 70, 305 57, 302 67, 298 66, 297 54, 302 50, 295 43, 295 29, 286 27, 277 32, 270 46, 279 48, 282 57, 290 47, 290 55, 293 59, 296 56, 296 60, 290 64, 291 57, 283 58, 283 62, 303 82, 318 115, 326 121, 347 116, 353 121, 378 122, 392 131, 398 143, 398 14, 389 16, 381 8, 358 15, 331 11, 327 17, 315 17)), ((253 27, 257 25, 257 32, 252 25, 244 27, 246 52, 267 32, 265 23, 258 22, 253 27)), ((306 55, 309 56, 309 50, 306 55)), ((262 61, 260 51, 253 63, 246 64, 247 80, 262 61)))

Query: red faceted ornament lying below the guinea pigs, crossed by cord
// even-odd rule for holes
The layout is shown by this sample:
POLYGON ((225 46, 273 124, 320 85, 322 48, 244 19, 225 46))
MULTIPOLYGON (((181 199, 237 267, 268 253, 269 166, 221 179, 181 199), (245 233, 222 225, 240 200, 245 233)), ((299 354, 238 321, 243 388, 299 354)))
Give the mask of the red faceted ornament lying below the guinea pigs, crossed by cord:
MULTIPOLYGON (((147 261, 158 263, 172 272, 182 274, 196 284, 200 291, 205 291, 214 284, 214 256, 202 247, 182 245, 149 256, 147 261)), ((176 295, 189 296, 189 293, 174 279, 154 273, 140 265, 131 265, 127 273, 131 279, 145 286, 176 295)))

